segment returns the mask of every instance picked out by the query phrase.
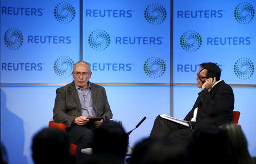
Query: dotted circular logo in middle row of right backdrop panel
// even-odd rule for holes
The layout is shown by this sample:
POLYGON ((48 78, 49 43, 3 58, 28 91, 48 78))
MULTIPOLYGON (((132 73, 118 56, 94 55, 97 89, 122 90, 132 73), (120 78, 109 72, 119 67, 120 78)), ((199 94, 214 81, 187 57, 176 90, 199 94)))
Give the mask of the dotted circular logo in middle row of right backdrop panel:
POLYGON ((196 51, 202 45, 202 37, 195 31, 187 31, 181 35, 180 45, 186 51, 196 51))

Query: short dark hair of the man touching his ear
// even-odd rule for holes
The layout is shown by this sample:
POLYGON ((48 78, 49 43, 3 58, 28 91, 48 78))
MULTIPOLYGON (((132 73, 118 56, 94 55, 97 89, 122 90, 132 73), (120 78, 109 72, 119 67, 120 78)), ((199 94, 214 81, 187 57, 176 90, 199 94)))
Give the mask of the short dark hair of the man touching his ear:
POLYGON ((200 67, 207 70, 207 77, 216 77, 216 81, 220 80, 221 70, 217 63, 201 63, 200 67))

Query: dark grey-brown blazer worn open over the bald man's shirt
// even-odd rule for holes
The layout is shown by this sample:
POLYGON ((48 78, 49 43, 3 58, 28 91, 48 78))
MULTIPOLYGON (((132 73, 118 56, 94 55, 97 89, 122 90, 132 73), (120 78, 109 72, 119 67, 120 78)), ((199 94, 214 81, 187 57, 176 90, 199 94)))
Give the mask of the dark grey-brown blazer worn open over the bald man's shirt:
MULTIPOLYGON (((90 83, 92 89, 93 108, 96 116, 112 118, 112 111, 109 106, 108 98, 104 87, 90 83)), ((53 108, 53 120, 64 123, 70 127, 73 120, 82 115, 79 96, 74 81, 56 89, 55 105, 53 108)))

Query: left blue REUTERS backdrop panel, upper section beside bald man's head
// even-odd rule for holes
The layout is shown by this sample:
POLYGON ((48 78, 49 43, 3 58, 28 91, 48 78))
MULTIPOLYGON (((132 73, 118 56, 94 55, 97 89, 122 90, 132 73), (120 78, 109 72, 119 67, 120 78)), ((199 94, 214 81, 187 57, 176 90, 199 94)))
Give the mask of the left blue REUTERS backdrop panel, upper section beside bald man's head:
POLYGON ((68 82, 79 21, 79 0, 1 1, 1 83, 68 82))

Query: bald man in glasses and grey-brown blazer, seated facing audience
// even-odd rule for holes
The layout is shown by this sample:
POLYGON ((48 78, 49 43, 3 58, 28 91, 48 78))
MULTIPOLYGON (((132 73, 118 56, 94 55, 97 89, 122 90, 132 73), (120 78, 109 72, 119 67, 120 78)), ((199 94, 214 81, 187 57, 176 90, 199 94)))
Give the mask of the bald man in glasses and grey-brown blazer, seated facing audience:
POLYGON ((56 89, 53 119, 65 124, 71 143, 77 145, 77 163, 84 163, 85 154, 81 153, 81 149, 92 146, 93 132, 112 118, 112 111, 105 89, 89 82, 92 72, 88 63, 77 62, 72 75, 72 83, 56 89), (103 119, 90 121, 96 116, 103 119))

